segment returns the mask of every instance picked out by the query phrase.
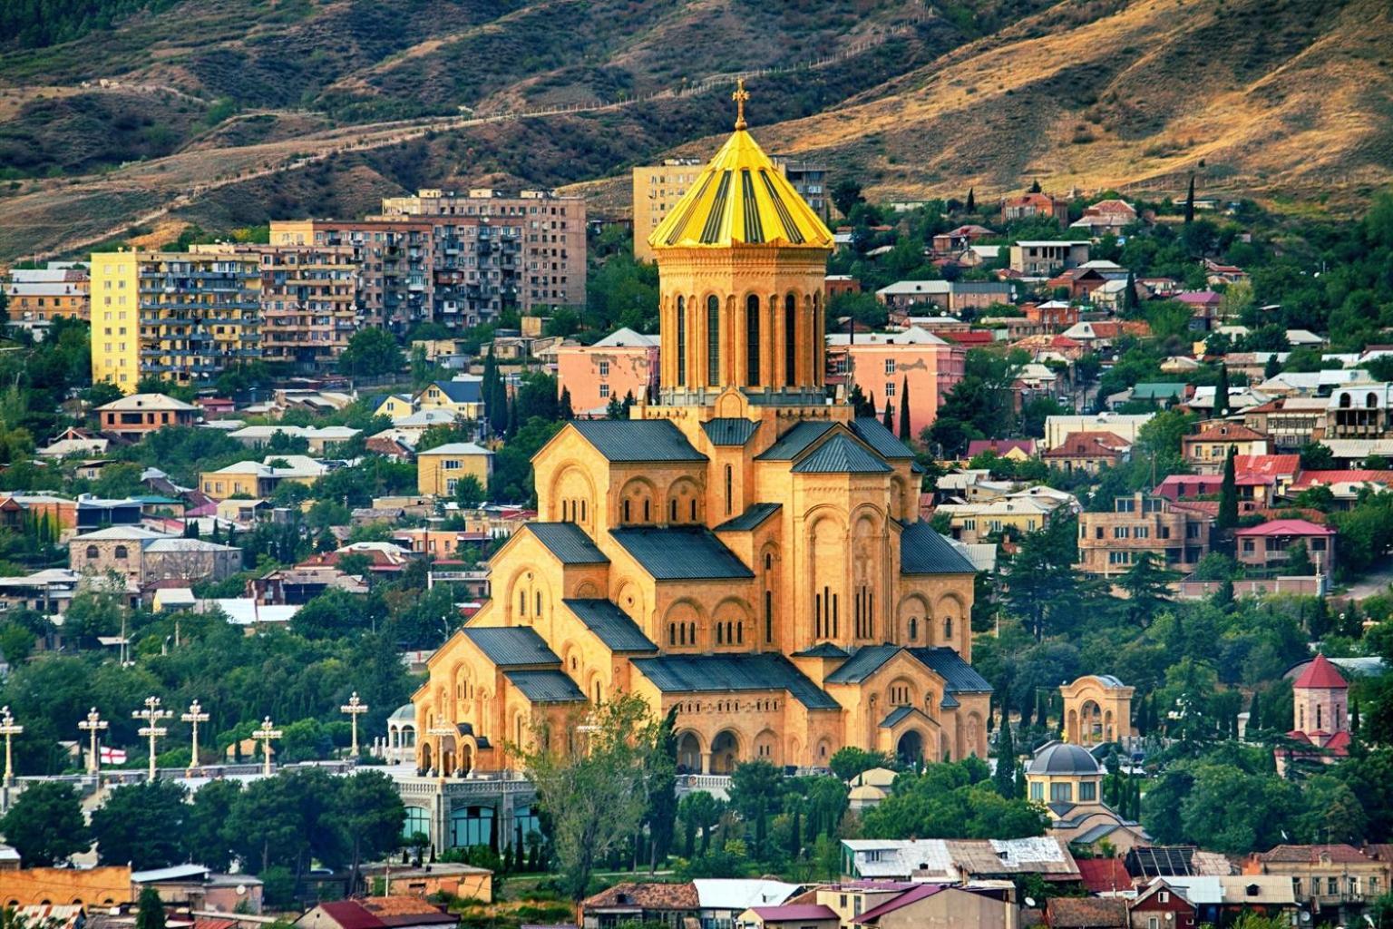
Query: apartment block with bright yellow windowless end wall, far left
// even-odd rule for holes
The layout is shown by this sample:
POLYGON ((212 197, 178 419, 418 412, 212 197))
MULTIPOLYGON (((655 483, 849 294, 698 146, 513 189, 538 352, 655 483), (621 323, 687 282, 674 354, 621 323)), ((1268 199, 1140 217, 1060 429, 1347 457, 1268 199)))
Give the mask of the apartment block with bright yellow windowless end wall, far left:
POLYGON ((96 252, 92 379, 199 383, 260 357, 260 262, 220 252, 96 252))

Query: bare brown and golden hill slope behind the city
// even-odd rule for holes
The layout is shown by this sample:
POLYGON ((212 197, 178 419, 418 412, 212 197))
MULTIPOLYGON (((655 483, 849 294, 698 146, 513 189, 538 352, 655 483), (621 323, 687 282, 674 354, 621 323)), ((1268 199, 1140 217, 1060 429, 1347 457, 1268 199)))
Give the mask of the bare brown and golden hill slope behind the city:
POLYGON ((1339 205, 1393 171, 1382 0, 116 6, 110 29, 0 45, 0 171, 60 174, 0 189, 0 260, 481 180, 623 209, 628 166, 712 150, 736 71, 768 71, 768 148, 872 195, 1165 195, 1198 170, 1211 194, 1339 205))

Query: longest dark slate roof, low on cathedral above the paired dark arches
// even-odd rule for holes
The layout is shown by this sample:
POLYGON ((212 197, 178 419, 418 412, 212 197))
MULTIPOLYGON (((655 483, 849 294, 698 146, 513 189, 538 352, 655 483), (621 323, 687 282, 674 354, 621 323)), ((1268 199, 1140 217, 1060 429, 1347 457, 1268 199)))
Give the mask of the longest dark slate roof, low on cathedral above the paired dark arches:
POLYGON ((663 655, 632 664, 666 694, 784 689, 808 709, 841 709, 783 655, 663 655))

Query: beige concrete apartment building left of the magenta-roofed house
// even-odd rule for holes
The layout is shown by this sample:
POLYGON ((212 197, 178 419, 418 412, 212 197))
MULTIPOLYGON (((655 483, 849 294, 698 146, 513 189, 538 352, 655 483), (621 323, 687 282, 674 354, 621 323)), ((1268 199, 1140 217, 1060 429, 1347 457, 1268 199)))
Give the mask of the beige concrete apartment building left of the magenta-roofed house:
POLYGON ((1078 514, 1078 570, 1124 574, 1146 552, 1156 567, 1188 574, 1209 552, 1212 522, 1213 517, 1165 497, 1117 497, 1110 513, 1078 514))

